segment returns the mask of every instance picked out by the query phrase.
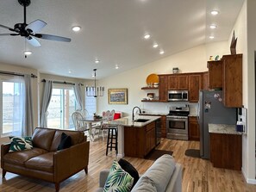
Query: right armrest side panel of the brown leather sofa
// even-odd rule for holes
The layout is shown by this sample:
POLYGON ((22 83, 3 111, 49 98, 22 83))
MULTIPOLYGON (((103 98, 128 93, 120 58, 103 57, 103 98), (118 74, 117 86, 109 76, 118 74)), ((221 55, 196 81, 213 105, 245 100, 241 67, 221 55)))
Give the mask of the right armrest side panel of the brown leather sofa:
POLYGON ((59 183, 79 170, 87 170, 90 142, 86 141, 53 155, 54 181, 59 183))

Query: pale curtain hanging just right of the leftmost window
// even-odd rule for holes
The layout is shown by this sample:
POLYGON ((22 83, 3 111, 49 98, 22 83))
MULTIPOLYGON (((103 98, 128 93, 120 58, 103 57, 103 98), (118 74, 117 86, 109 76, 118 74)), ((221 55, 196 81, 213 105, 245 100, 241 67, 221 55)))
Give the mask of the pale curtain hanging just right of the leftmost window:
POLYGON ((23 86, 23 118, 22 118, 22 136, 31 136, 33 133, 33 101, 31 91, 31 75, 24 75, 23 86))

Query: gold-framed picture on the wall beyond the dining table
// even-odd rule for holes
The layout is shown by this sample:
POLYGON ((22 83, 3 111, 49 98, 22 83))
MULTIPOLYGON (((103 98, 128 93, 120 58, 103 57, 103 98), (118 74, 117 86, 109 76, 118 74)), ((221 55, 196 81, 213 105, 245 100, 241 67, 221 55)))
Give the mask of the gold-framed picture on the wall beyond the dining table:
POLYGON ((128 104, 128 89, 109 89, 109 104, 128 104))

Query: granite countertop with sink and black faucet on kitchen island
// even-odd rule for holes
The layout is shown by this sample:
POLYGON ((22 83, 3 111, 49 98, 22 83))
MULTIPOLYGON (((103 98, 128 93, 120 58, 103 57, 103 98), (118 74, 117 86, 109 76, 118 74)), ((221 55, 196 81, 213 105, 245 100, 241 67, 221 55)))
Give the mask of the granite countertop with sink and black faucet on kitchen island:
POLYGON ((149 121, 146 122, 134 122, 132 121, 132 117, 131 116, 127 116, 127 117, 122 117, 121 119, 117 119, 114 121, 108 121, 106 124, 109 125, 120 125, 120 126, 125 126, 125 127, 144 127, 147 124, 158 120, 159 118, 161 118, 160 116, 149 116, 149 115, 140 115, 140 116, 135 116, 135 120, 137 119, 147 119, 149 121))

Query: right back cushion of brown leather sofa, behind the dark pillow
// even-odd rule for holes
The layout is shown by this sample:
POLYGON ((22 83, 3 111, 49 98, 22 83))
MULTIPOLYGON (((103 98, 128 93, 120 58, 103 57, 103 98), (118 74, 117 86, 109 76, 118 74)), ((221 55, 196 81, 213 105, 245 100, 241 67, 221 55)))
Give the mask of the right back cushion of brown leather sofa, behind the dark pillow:
POLYGON ((67 131, 67 130, 56 130, 53 136, 52 146, 50 148, 51 152, 56 152, 61 140, 61 134, 66 133, 72 139, 72 146, 82 143, 84 141, 84 132, 79 131, 67 131))

